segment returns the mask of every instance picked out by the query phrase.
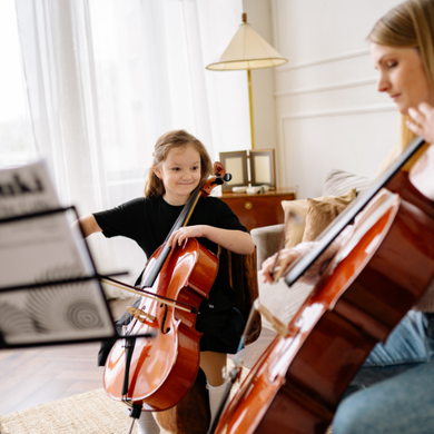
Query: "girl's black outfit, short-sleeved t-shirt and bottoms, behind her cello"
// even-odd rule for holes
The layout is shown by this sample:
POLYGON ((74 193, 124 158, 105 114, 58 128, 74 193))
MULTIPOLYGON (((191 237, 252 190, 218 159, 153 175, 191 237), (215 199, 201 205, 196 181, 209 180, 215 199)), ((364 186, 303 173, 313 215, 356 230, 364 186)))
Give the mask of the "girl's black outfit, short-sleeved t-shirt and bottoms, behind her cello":
MULTIPOLYGON (((140 246, 149 258, 165 243, 183 208, 184 206, 167 204, 162 197, 142 197, 129 200, 112 209, 95 213, 93 216, 106 237, 124 236, 130 238, 140 246)), ((200 197, 196 204, 188 223, 188 226, 195 225, 248 231, 227 204, 211 196, 200 197)), ((217 244, 207 238, 197 239, 207 249, 217 254, 217 244)), ((136 280, 136 285, 140 283, 140 276, 136 280)), ((196 324, 196 328, 204 333, 200 341, 201 351, 235 353, 239 336, 223 336, 234 334, 231 331, 238 333, 239 328, 243 327, 243 317, 239 313, 239 315, 234 314, 235 306, 235 292, 218 272, 209 292, 209 298, 200 305, 196 324), (221 324, 225 322, 233 323, 231 328, 221 324), (218 335, 221 335, 223 341, 218 335), (228 338, 231 343, 224 343, 228 338), (218 343, 218 341, 221 342, 218 343)))

